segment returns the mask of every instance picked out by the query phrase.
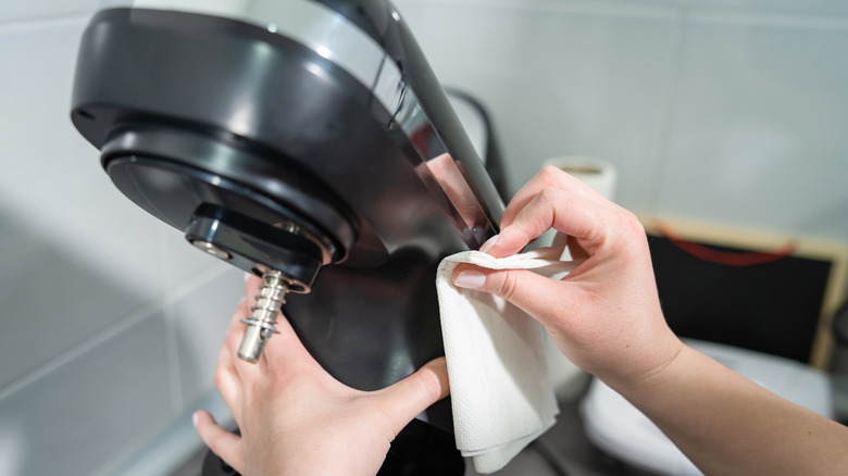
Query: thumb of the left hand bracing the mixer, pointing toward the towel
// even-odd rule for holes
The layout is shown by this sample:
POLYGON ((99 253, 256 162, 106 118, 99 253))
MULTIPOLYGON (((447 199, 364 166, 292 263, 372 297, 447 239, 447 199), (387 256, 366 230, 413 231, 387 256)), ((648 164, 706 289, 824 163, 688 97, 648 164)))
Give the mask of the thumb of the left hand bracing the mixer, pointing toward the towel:
POLYGON ((389 414, 395 435, 427 406, 450 393, 445 358, 429 361, 417 372, 375 392, 375 404, 389 414))

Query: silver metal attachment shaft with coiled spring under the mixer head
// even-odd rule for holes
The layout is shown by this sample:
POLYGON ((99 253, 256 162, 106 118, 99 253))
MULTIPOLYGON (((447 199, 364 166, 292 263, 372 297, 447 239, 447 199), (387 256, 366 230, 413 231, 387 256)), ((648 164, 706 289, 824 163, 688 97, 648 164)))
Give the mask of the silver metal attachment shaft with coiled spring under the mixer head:
POLYGON ((247 327, 241 347, 238 348, 239 359, 257 362, 262 355, 267 339, 278 334, 274 324, 277 322, 280 306, 286 303, 286 295, 289 290, 290 283, 283 273, 270 270, 262 275, 257 303, 250 308, 250 316, 241 320, 247 327))

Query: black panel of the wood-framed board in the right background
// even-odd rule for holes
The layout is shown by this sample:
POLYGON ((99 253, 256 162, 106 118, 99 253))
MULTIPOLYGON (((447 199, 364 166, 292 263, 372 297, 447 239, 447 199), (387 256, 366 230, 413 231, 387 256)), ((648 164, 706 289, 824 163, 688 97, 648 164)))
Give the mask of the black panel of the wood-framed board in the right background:
POLYGON ((648 242, 662 310, 675 334, 810 362, 831 262, 785 256, 729 266, 696 258, 661 236, 649 235, 648 242))

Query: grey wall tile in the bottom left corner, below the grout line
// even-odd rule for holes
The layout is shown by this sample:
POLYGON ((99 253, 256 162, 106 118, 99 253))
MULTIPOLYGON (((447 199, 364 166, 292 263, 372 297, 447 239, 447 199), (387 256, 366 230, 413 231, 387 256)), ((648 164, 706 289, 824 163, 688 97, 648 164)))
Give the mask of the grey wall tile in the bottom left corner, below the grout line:
MULTIPOLYGON (((119 326, 120 327, 120 326, 119 326)), ((171 417, 162 315, 90 342, 0 398, 4 476, 90 475, 171 417)))

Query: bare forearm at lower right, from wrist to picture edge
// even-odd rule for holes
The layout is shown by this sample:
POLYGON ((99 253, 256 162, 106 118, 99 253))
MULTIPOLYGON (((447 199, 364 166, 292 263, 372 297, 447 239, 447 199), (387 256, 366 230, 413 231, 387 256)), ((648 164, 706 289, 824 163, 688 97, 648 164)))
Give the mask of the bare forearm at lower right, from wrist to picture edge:
POLYGON ((690 348, 646 379, 609 384, 707 475, 848 474, 848 428, 690 348))

